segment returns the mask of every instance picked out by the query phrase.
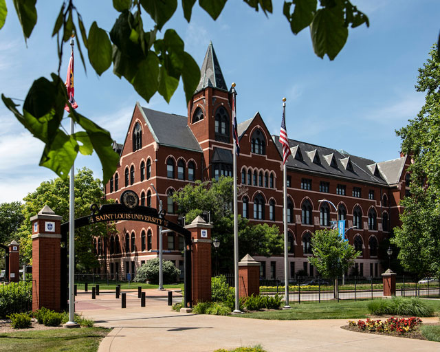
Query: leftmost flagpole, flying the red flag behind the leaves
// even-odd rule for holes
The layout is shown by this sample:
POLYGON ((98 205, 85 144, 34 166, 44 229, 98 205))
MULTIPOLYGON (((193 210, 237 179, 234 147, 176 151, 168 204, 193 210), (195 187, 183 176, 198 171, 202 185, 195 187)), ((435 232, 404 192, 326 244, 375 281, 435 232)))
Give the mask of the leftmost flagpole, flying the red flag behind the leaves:
MULTIPOLYGON (((74 55, 74 36, 70 39, 70 54, 74 55)), ((70 119, 70 134, 75 133, 74 119, 70 119)), ((69 179, 69 321, 65 327, 79 327, 75 322, 75 162, 70 168, 69 179)))

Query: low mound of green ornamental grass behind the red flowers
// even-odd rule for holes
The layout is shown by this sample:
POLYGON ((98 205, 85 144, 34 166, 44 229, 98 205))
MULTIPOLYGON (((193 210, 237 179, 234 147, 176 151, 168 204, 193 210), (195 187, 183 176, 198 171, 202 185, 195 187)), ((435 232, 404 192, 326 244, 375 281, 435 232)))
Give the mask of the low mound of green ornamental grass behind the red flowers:
POLYGON ((399 316, 432 316, 433 311, 416 297, 393 297, 391 300, 373 300, 367 306, 377 316, 393 314, 399 316))

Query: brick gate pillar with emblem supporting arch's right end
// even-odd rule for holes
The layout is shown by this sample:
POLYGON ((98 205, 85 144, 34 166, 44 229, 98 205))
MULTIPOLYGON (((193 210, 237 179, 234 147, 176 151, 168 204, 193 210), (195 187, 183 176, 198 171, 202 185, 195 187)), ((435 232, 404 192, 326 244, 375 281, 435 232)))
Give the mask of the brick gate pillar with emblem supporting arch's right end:
POLYGON ((192 305, 211 300, 211 228, 201 217, 196 217, 185 228, 192 239, 192 305))

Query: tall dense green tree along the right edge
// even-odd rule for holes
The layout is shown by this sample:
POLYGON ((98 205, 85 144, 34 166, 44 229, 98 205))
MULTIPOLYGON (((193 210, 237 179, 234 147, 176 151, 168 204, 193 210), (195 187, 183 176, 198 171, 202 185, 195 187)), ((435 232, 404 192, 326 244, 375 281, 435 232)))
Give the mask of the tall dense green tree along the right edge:
POLYGON ((400 249, 401 265, 416 278, 440 276, 440 58, 437 45, 419 69, 417 91, 425 104, 408 126, 397 131, 401 150, 411 155, 410 197, 401 200, 401 226, 392 243, 400 249))

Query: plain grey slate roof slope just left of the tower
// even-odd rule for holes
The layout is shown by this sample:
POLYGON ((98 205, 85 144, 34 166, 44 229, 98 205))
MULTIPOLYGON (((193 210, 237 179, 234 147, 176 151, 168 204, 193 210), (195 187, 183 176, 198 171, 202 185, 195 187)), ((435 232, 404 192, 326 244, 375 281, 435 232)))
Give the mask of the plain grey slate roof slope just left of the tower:
POLYGON ((201 152, 199 143, 188 127, 186 116, 163 113, 145 107, 140 107, 140 110, 158 144, 201 152))

